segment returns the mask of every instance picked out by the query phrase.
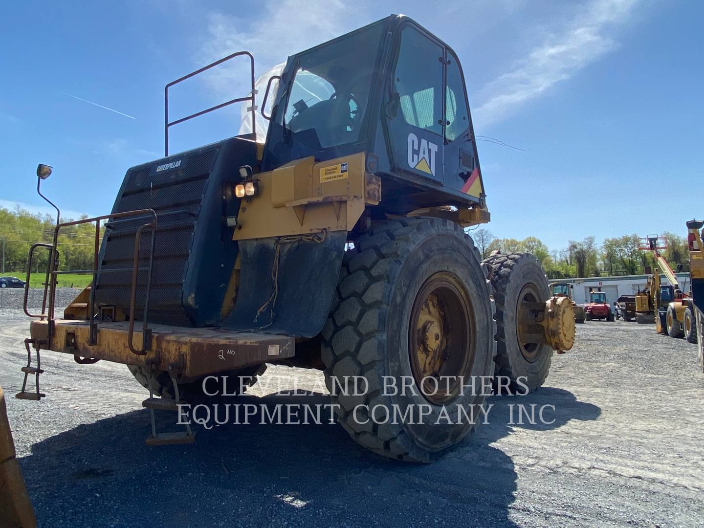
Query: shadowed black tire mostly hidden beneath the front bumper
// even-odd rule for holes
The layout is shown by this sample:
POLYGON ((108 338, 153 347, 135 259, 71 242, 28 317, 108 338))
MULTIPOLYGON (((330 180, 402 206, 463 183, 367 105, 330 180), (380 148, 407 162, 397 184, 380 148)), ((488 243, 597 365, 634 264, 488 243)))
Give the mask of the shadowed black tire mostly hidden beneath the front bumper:
MULTIPOLYGON (((127 368, 132 372, 134 379, 141 384, 145 389, 149 389, 149 370, 145 367, 136 367, 134 365, 127 365, 127 368)), ((266 370, 266 365, 255 365, 253 367, 244 367, 240 370, 227 370, 225 372, 218 372, 213 376, 220 377, 228 376, 227 382, 227 395, 232 396, 236 394, 240 389, 240 379, 242 378, 242 386, 244 389, 256 384, 257 379, 260 375, 263 375, 266 370)), ((208 392, 214 393, 218 392, 215 396, 210 396, 203 392, 203 377, 199 377, 194 381, 187 383, 179 383, 179 396, 181 401, 191 403, 196 405, 198 403, 218 403, 224 392, 223 385, 221 383, 215 384, 213 382, 212 386, 208 386, 208 392)), ((210 380, 212 382, 212 380, 210 380)), ((155 375, 151 377, 151 390, 156 396, 162 396, 163 398, 175 398, 173 384, 168 372, 164 370, 158 370, 155 375)))

